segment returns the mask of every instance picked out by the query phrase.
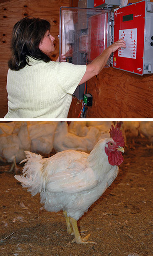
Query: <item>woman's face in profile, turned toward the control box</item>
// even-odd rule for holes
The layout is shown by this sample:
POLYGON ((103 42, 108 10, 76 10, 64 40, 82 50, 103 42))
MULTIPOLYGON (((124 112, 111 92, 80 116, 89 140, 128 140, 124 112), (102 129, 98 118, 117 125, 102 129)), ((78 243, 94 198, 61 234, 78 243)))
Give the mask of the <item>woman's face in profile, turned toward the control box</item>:
POLYGON ((48 56, 51 54, 51 52, 54 51, 54 37, 49 34, 49 30, 47 30, 46 34, 44 35, 44 38, 42 39, 42 41, 39 43, 39 49, 41 50, 41 52, 44 52, 45 54, 47 54, 48 56))

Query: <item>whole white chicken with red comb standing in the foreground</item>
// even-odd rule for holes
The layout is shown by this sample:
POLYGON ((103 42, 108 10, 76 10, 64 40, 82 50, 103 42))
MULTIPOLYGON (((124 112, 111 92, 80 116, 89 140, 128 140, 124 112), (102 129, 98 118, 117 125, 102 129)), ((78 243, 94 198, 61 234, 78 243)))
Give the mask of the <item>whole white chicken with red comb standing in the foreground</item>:
POLYGON ((88 241, 90 234, 81 237, 77 220, 111 185, 124 160, 122 131, 112 126, 110 136, 100 140, 90 154, 67 150, 43 159, 25 152, 23 175, 15 175, 32 196, 40 193, 47 211, 63 211, 67 232, 74 235, 72 242, 78 244, 94 243, 88 241))

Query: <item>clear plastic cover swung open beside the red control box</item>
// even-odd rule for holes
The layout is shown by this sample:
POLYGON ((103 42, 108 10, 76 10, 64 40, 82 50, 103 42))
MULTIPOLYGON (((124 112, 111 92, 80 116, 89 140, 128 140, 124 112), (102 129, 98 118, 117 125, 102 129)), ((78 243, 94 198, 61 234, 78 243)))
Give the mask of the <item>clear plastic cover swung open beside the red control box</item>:
POLYGON ((61 7, 60 55, 73 64, 90 63, 110 45, 110 16, 110 10, 61 7))

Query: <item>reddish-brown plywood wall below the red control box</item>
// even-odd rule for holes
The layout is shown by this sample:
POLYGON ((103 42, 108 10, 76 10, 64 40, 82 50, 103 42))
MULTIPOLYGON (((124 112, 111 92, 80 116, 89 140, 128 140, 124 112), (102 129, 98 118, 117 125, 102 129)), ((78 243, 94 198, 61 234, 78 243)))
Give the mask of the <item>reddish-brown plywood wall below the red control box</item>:
MULTIPOLYGON (((86 118, 153 118, 153 74, 139 76, 104 68, 88 81, 87 88, 93 106, 88 107, 86 118)), ((73 99, 68 117, 78 118, 81 106, 82 101, 73 99)))

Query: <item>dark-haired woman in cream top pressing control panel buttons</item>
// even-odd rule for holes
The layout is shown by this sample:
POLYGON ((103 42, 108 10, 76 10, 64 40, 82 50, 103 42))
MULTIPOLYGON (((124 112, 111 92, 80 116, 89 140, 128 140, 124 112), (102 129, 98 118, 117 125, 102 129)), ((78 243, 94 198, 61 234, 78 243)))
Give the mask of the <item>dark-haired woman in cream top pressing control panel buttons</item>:
POLYGON ((88 65, 54 62, 49 31, 49 22, 40 18, 26 17, 14 25, 4 118, 67 118, 76 87, 99 74, 112 52, 126 47, 120 39, 88 65))

